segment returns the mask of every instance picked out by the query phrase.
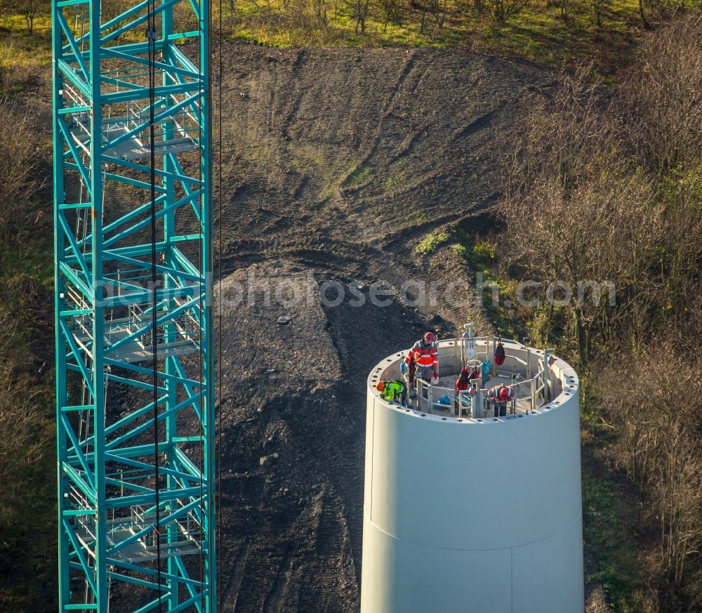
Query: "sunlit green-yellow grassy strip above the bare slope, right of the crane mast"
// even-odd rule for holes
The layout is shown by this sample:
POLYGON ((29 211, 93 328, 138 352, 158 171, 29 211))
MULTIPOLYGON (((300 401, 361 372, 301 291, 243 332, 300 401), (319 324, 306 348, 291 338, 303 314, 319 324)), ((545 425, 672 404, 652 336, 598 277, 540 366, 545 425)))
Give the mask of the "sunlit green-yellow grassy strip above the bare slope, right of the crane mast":
POLYGON ((256 0, 223 4, 227 37, 269 46, 469 46, 569 65, 591 59, 611 74, 632 56, 637 1, 256 0), (501 18, 506 5, 514 12, 501 18))

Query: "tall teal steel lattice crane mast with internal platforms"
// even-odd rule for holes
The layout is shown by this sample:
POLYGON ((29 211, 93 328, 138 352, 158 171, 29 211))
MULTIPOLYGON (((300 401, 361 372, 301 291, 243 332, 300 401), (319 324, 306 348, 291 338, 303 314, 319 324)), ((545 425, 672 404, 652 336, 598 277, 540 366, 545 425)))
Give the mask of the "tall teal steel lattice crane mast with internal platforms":
POLYGON ((210 7, 131 4, 52 1, 60 611, 213 613, 210 7))

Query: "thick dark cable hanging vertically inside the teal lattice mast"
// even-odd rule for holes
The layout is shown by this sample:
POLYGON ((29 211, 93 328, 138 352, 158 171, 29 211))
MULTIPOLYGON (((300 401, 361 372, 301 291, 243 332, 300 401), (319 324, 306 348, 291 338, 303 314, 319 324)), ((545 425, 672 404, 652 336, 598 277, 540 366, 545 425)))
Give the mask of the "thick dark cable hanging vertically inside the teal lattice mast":
POLYGON ((151 149, 151 345, 152 345, 152 371, 154 388, 154 495, 156 504, 156 570, 158 586, 158 605, 161 613, 161 496, 159 489, 159 364, 158 364, 158 301, 156 296, 157 268, 156 268, 156 0, 147 0, 147 30, 146 37, 149 48, 149 137, 151 149))

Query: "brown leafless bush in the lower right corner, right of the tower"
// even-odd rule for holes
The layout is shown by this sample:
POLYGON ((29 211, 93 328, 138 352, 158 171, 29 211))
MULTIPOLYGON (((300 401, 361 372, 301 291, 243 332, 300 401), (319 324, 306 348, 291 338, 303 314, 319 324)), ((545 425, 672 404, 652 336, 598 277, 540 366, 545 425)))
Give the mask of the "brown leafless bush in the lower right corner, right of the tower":
MULTIPOLYGON (((702 359, 668 334, 634 355, 618 355, 595 381, 602 415, 618 433, 619 466, 650 496, 642 520, 658 527, 655 568, 687 604, 702 602, 693 564, 702 547, 702 359), (614 383, 614 385, 613 385, 614 383)), ((681 609, 682 610, 682 609, 681 609)), ((691 610, 691 609, 688 609, 691 610)))

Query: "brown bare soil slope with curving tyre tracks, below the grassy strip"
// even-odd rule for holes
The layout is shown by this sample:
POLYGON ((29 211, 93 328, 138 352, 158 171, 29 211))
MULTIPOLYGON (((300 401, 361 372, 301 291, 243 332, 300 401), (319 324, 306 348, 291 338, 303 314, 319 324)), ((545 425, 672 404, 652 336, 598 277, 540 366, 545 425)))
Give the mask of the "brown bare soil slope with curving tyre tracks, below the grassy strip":
POLYGON ((495 202, 522 98, 550 78, 458 51, 256 46, 225 48, 223 74, 225 272, 286 254, 355 275, 495 202))

